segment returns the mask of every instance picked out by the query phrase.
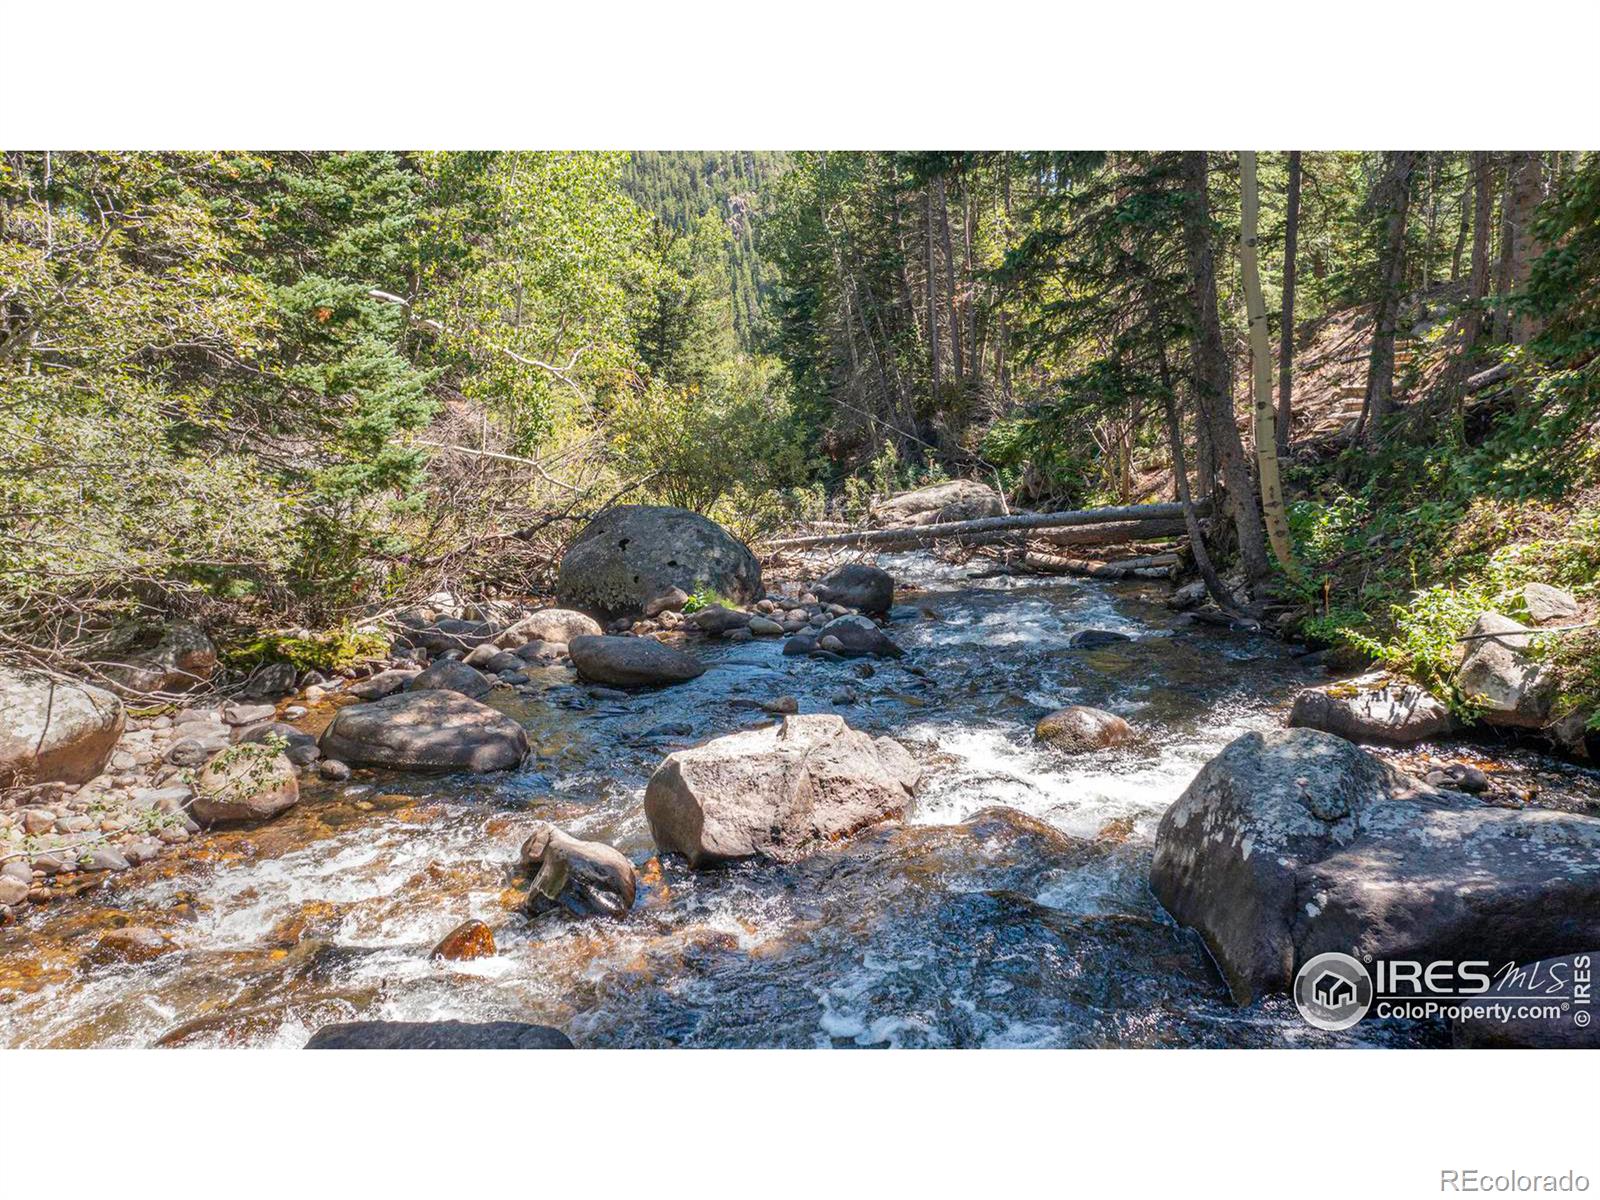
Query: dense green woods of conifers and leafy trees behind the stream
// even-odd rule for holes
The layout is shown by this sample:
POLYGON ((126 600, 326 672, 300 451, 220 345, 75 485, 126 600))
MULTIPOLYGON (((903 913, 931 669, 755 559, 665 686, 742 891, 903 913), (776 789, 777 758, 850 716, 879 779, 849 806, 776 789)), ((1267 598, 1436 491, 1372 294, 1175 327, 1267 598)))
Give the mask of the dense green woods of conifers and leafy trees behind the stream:
POLYGON ((1488 597, 1595 590, 1597 349, 1592 152, 8 152, 0 637, 350 629, 622 498, 973 477, 1184 501, 1224 606, 1443 688, 1488 597))

